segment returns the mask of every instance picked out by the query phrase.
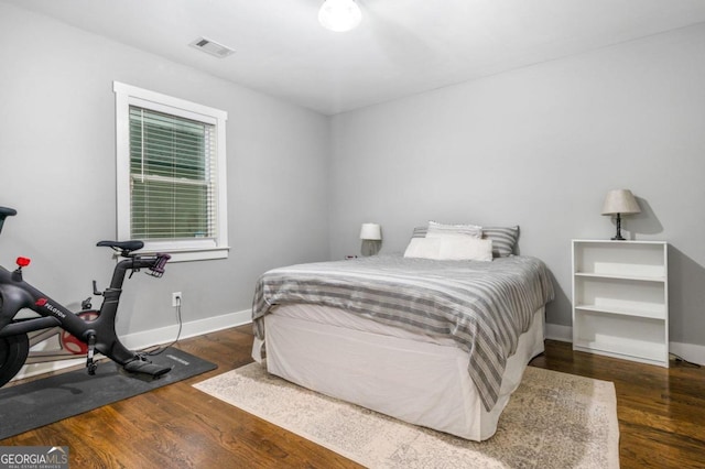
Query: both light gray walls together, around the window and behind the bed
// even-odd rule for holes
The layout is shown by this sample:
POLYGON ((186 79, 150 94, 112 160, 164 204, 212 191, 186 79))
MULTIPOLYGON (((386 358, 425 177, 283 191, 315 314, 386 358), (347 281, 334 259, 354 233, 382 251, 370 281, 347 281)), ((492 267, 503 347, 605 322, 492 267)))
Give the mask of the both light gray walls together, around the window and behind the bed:
POLYGON ((361 222, 392 252, 429 219, 519 223, 567 327, 570 240, 609 238, 603 198, 626 187, 629 234, 671 243, 671 339, 705 346, 704 25, 333 118, 4 3, 0 41, 0 205, 20 210, 0 263, 32 257, 65 303, 112 265, 94 247, 116 233, 112 80, 229 113, 230 258, 129 282, 122 332, 173 324, 173 291, 187 321, 238 312, 269 268, 358 254, 361 222))

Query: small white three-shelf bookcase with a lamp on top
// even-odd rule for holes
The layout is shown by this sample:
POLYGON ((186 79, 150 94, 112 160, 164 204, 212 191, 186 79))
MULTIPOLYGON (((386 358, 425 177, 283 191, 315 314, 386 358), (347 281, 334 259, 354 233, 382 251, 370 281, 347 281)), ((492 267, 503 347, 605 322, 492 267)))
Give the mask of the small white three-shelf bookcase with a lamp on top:
POLYGON ((668 243, 573 240, 573 349, 669 367, 668 243))

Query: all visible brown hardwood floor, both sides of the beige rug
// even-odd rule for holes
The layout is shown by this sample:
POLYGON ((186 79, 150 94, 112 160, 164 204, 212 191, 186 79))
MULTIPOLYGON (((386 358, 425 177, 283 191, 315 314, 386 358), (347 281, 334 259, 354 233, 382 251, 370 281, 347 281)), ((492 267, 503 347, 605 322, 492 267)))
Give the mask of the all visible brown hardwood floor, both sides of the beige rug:
MULTIPOLYGON (((249 363, 251 326, 183 340, 218 369, 47 425, 0 446, 68 446, 72 468, 357 468, 192 384, 249 363)), ((705 468, 705 370, 662 369, 546 341, 532 366, 614 381, 622 468, 705 468)), ((1 425, 1 417, 0 417, 1 425)))

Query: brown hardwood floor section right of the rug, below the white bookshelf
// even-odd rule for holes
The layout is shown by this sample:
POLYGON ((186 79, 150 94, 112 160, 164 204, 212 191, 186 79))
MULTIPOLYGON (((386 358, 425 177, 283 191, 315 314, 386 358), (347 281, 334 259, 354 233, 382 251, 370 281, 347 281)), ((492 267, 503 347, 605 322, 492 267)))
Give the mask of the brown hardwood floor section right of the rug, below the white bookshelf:
POLYGON ((705 468, 705 369, 574 352, 551 340, 531 364, 615 383, 622 469, 705 468))

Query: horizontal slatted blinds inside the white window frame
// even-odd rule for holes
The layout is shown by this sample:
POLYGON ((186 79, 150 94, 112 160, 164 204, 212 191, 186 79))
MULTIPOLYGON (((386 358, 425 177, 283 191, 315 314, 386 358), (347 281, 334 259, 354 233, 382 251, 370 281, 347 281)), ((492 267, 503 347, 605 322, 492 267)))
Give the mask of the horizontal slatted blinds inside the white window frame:
POLYGON ((215 126, 130 106, 131 236, 215 238, 215 126))

